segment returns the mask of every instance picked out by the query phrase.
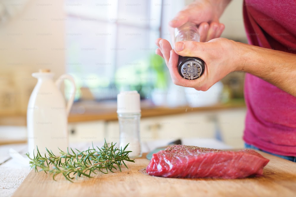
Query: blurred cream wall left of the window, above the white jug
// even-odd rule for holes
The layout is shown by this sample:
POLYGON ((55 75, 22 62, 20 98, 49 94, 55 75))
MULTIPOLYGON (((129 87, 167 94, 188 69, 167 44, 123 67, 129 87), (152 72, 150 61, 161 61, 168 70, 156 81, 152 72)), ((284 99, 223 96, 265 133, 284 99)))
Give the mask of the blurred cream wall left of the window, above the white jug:
POLYGON ((25 113, 28 98, 37 80, 32 72, 49 68, 56 77, 65 73, 64 1, 2 1, 9 10, 17 10, 0 23, 0 114, 25 113), (3 87, 1 87, 1 85, 3 87), (7 101, 10 92, 11 101, 7 101), (1 103, 6 101, 5 109, 1 103))

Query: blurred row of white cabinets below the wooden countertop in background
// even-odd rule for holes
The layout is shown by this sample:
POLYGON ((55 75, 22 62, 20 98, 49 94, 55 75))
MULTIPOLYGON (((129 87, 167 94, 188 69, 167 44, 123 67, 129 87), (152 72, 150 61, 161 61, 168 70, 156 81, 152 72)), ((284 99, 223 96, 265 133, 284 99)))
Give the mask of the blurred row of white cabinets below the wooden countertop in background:
MULTIPOLYGON (((141 141, 219 137, 233 148, 243 148, 245 108, 141 118, 141 141)), ((70 142, 119 142, 118 121, 93 121, 69 124, 70 142)))

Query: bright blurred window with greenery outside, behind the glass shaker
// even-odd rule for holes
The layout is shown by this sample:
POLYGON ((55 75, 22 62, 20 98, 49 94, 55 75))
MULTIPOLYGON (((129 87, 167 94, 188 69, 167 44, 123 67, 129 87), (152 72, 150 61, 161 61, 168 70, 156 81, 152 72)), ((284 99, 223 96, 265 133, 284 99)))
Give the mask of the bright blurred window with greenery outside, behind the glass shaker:
POLYGON ((137 90, 142 98, 155 85, 151 67, 160 37, 161 0, 65 1, 66 68, 78 88, 94 99, 116 99, 120 90, 137 90))

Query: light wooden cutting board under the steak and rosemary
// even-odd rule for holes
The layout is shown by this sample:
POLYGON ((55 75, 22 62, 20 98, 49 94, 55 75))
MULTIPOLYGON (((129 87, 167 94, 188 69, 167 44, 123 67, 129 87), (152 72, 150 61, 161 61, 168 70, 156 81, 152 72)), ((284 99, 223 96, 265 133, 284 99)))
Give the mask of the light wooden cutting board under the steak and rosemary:
POLYGON ((235 180, 153 177, 139 172, 149 160, 145 155, 128 169, 94 178, 80 177, 70 183, 64 177, 52 180, 32 170, 14 193, 16 196, 296 196, 296 163, 263 152, 270 162, 263 176, 235 180))

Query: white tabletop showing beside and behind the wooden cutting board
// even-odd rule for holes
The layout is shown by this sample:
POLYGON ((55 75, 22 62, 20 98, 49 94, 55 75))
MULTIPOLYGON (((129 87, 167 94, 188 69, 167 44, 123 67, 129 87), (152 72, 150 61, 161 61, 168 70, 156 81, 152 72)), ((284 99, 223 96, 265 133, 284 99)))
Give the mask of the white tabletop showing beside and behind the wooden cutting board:
MULTIPOLYGON (((142 151, 145 153, 154 150, 157 147, 165 146, 169 140, 155 140, 142 143, 142 151)), ((229 149, 230 146, 217 141, 215 139, 182 139, 182 143, 186 145, 195 145, 217 149, 229 149)), ((102 146, 103 142, 95 142, 96 146, 102 146)), ((71 147, 84 150, 88 148, 88 143, 71 144, 71 147)), ((27 152, 27 144, 7 144, 0 146, 0 196, 12 196, 23 180, 30 173, 31 169, 28 165, 28 159, 25 156, 27 152)), ((148 160, 147 160, 148 161, 148 160)), ((46 196, 44 193, 42 195, 46 196)), ((57 195, 59 196, 59 195, 57 195)), ((67 195, 69 196, 69 195, 67 195)))

